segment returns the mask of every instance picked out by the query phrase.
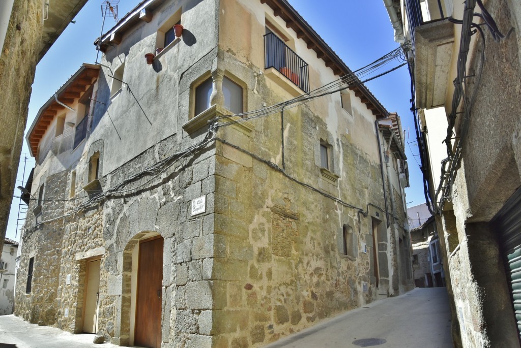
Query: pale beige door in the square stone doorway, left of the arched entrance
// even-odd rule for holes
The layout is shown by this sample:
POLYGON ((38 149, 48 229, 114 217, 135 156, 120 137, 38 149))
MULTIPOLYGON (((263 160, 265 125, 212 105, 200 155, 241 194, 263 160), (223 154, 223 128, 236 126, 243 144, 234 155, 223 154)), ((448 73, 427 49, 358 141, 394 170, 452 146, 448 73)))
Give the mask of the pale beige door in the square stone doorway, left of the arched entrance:
POLYGON ((97 333, 98 294, 100 293, 101 260, 87 262, 83 332, 97 333))

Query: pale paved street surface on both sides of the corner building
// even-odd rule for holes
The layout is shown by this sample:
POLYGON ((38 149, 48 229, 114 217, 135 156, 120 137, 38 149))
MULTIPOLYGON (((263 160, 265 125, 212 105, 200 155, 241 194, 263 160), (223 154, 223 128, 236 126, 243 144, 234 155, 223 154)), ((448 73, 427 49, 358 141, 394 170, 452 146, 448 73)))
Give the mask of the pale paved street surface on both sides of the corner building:
MULTIPOLYGON (((326 320, 266 348, 450 348, 449 319, 445 288, 415 289, 326 320), (353 344, 364 339, 358 345, 353 344), (386 342, 381 343, 383 340, 386 342)), ((0 316, 0 348, 116 347, 109 343, 93 344, 94 336, 28 324, 13 315, 0 316)))

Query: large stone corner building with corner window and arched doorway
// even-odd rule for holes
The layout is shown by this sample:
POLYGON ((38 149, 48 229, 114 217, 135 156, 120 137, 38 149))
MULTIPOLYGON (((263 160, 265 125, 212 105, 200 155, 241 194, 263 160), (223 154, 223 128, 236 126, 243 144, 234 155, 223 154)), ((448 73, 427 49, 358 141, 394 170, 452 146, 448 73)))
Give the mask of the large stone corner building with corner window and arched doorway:
POLYGON ((101 48, 27 134, 16 315, 247 347, 413 287, 400 118, 286 1, 146 0, 101 48))

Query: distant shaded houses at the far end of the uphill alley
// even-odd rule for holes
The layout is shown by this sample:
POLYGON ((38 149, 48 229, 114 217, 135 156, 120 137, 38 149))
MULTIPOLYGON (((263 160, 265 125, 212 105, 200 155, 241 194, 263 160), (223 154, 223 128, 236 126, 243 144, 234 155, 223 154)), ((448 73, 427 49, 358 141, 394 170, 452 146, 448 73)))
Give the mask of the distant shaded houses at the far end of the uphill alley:
POLYGON ((430 214, 425 203, 407 208, 407 216, 413 248, 414 285, 417 288, 444 286, 445 275, 434 216, 430 214), (417 220, 414 216, 417 216, 417 220))

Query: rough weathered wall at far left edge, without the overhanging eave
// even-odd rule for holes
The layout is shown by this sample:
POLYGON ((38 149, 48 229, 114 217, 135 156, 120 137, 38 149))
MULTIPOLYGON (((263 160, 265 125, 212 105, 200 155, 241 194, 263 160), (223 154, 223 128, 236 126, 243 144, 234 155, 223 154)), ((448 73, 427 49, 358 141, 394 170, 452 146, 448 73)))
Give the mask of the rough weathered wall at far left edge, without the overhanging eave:
MULTIPOLYGON (((15 1, 0 56, 0 248, 15 187, 31 84, 41 41, 42 3, 15 1)), ((0 47, 1 48, 1 47, 0 47)))

